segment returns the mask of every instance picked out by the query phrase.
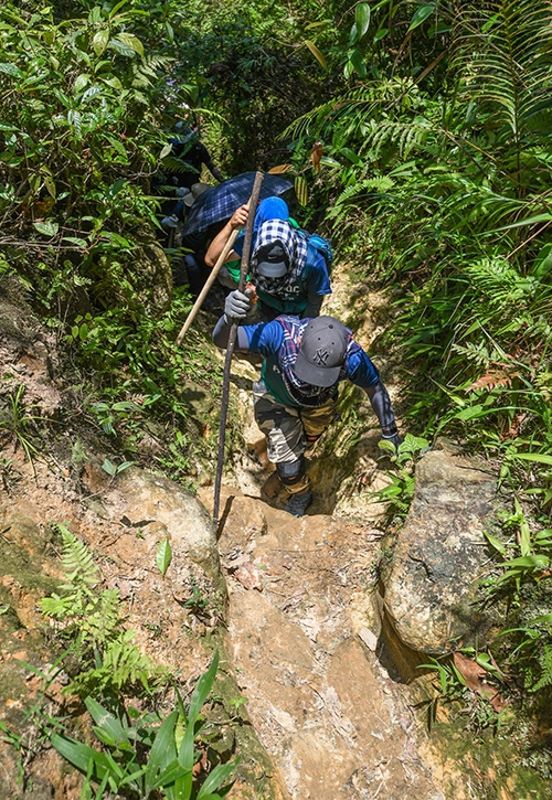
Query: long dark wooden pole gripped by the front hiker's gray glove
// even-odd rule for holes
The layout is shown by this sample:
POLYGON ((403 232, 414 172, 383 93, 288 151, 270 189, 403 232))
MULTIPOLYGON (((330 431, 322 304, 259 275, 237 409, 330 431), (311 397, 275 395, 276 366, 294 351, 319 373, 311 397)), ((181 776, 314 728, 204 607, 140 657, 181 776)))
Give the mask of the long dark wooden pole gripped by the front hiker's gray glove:
MULTIPOLYGON (((261 184, 263 183, 263 173, 257 172, 255 175, 255 183, 253 184, 253 192, 250 199, 250 213, 247 222, 245 224, 245 238, 242 250, 242 263, 240 266, 240 284, 237 288, 240 291, 245 289, 245 279, 247 277, 247 270, 250 268, 250 255, 251 245, 253 241, 253 223, 255 222, 255 212, 257 210, 258 195, 261 193, 261 184)), ((229 397, 230 397, 230 370, 232 366, 232 354, 234 352, 234 345, 237 337, 237 324, 234 322, 230 329, 229 343, 226 344, 226 356, 224 359, 224 377, 222 383, 222 401, 221 401, 221 425, 219 427, 219 458, 216 460, 216 476, 214 480, 214 500, 213 500, 213 524, 214 530, 219 525, 219 505, 221 502, 221 482, 222 482, 222 468, 224 466, 224 438, 226 435, 226 416, 229 413, 229 397)))

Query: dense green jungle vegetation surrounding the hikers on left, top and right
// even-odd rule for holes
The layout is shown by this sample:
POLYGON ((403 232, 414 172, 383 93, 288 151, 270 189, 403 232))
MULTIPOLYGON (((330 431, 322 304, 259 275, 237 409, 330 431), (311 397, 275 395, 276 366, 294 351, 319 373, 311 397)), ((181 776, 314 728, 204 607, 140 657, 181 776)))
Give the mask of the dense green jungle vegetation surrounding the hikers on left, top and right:
POLYGON ((489 537, 487 601, 506 616, 482 662, 549 737, 551 41, 549 0, 0 10, 0 273, 95 372, 86 413, 139 460, 155 412, 164 468, 190 479, 181 387, 212 366, 198 337, 171 348, 185 291, 153 318, 132 265, 153 238, 167 132, 191 109, 224 172, 285 166, 305 223, 389 288, 412 431, 498 469, 511 513, 489 537))

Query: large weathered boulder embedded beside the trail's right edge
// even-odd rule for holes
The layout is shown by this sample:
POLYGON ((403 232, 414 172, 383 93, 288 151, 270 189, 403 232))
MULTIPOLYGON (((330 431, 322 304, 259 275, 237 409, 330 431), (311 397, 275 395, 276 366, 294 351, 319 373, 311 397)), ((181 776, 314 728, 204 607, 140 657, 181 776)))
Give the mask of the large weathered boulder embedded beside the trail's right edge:
POLYGON ((488 557, 482 532, 495 522, 496 492, 496 476, 473 460, 446 450, 420 460, 383 602, 400 640, 413 650, 440 655, 491 625, 477 597, 488 557))

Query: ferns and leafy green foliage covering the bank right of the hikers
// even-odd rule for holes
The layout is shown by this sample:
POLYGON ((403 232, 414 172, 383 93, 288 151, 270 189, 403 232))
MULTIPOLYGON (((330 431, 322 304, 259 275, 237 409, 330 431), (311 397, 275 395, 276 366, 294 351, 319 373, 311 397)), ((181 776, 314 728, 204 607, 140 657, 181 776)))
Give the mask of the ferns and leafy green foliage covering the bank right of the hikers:
POLYGON ((521 544, 505 523, 488 601, 509 598, 495 647, 544 692, 539 705, 552 647, 550 4, 370 6, 355 7, 347 61, 339 42, 328 52, 348 86, 287 130, 293 161, 321 143, 314 202, 360 274, 394 286, 413 428, 496 459, 519 498, 521 544))

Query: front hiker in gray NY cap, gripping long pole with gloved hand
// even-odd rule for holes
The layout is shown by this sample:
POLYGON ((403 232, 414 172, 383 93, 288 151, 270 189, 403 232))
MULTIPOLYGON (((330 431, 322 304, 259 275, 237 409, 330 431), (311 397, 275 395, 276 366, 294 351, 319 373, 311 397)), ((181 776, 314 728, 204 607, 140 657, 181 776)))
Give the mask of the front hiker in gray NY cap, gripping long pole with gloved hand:
MULTIPOLYGON (((213 341, 225 348, 233 322, 245 319, 250 298, 232 292, 213 341)), ((305 451, 336 415, 338 384, 348 378, 364 390, 379 419, 382 437, 395 448, 399 436, 388 391, 376 367, 333 317, 298 319, 288 314, 272 322, 241 324, 236 349, 264 356, 261 380, 253 384, 255 419, 268 444, 268 459, 289 493, 286 511, 302 516, 312 501, 305 451)))

